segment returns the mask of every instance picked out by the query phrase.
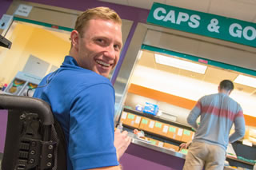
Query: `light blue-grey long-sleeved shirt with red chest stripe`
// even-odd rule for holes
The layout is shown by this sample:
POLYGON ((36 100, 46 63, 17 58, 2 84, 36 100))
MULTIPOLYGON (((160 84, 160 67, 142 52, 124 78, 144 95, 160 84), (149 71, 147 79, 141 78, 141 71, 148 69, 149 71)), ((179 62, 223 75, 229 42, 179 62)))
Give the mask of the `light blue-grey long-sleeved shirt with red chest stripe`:
POLYGON ((217 144, 226 149, 229 142, 245 134, 245 120, 242 108, 225 93, 216 93, 200 98, 191 110, 187 122, 197 131, 193 141, 217 144), (200 117, 200 125, 196 121, 200 117), (235 131, 230 134, 234 124, 235 131))

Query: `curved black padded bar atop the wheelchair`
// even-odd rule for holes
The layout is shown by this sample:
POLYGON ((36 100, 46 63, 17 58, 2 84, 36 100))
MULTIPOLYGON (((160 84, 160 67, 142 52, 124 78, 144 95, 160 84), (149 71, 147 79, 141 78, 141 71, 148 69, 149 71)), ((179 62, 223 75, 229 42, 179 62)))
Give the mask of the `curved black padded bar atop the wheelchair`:
POLYGON ((54 116, 50 105, 46 101, 37 98, 0 94, 0 109, 18 109, 38 113, 42 125, 54 124, 54 116))

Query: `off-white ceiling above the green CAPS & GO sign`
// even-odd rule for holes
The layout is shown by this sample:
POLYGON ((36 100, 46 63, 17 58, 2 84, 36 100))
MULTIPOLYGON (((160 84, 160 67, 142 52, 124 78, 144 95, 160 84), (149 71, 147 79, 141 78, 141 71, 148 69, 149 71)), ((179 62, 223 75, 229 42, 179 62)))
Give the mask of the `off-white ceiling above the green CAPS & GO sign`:
POLYGON ((100 0, 150 10, 153 2, 256 23, 256 0, 100 0))

